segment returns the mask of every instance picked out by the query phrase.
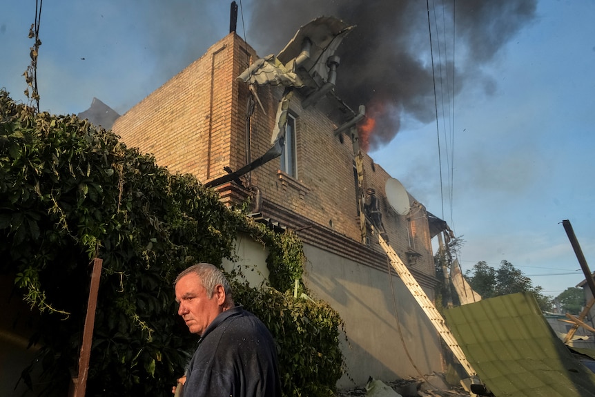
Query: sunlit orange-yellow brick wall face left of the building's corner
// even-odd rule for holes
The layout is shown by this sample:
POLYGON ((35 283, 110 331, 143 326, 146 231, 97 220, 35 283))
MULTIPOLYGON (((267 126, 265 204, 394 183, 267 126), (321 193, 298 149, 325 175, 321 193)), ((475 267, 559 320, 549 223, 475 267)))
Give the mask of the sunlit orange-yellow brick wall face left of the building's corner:
MULTIPOLYGON (((224 166, 244 161, 243 140, 230 139, 238 119, 240 61, 249 57, 230 34, 205 55, 157 88, 116 120, 113 130, 128 146, 152 153, 174 173, 193 173, 206 181, 224 166), (229 59, 237 59, 231 64, 229 59), (242 146, 241 148, 238 146, 242 146)), ((244 89, 245 90, 245 89, 244 89)))

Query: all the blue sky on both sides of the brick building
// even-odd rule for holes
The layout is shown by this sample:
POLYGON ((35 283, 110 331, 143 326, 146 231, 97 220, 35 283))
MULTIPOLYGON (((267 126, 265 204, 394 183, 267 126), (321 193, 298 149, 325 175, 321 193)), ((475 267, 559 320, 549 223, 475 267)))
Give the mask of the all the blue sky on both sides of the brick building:
MULTIPOLYGON (((44 2, 41 110, 80 113, 97 97, 125 113, 226 35, 229 3, 44 2)), ((243 1, 237 28, 244 37, 243 11, 246 37, 260 55, 281 49, 267 42, 264 25, 257 23, 262 18, 271 26, 283 23, 279 14, 266 14, 280 10, 264 3, 243 1), (261 19, 252 18, 253 10, 261 19)), ((425 8, 425 2, 418 3, 425 8)), ((35 1, 0 0, 0 9, 0 87, 26 101, 21 75, 29 62, 35 1)), ((493 267, 508 260, 547 294, 574 287, 583 273, 560 223, 565 219, 595 270, 593 15, 593 0, 538 1, 534 18, 476 66, 474 72, 483 77, 475 80, 478 84, 467 79, 457 88, 447 103, 448 117, 420 122, 404 114, 398 134, 369 153, 463 236, 463 271, 480 260, 493 267)), ((304 18, 295 27, 286 23, 291 35, 279 35, 277 41, 289 41, 311 16, 304 18)), ((427 21, 423 26, 412 29, 420 30, 416 45, 427 55, 427 21)), ((471 64, 463 43, 455 49, 456 65, 471 64)))

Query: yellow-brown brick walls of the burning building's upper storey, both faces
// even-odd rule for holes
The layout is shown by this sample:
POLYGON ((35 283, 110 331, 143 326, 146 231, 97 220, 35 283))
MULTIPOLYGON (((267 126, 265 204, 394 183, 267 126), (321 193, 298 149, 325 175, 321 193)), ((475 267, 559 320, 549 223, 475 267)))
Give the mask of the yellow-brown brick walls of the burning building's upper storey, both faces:
MULTIPOLYGON (((241 168, 271 148, 277 104, 284 91, 280 86, 257 87, 262 108, 255 104, 247 122, 248 88, 235 78, 255 58, 254 50, 240 37, 227 35, 117 119, 113 130, 128 146, 153 153, 159 165, 176 173, 193 173, 203 183, 225 175, 225 166, 234 171, 241 168)), ((335 136, 340 122, 327 117, 322 106, 302 108, 303 99, 295 90, 290 102, 296 121, 297 177, 282 173, 277 158, 245 175, 244 185, 260 190, 264 203, 260 211, 265 215, 283 212, 275 208, 289 210, 296 215, 287 220, 292 229, 307 226, 303 224, 307 219, 320 225, 318 229, 344 235, 357 244, 361 233, 351 139, 335 136)), ((391 246, 406 263, 408 251, 420 253, 413 268, 433 275, 425 208, 416 206, 409 217, 393 211, 384 193, 389 177, 364 156, 365 187, 377 192, 391 246)), ((242 200, 249 193, 231 183, 218 189, 226 202, 242 200)), ((369 249, 382 253, 373 236, 369 249)))

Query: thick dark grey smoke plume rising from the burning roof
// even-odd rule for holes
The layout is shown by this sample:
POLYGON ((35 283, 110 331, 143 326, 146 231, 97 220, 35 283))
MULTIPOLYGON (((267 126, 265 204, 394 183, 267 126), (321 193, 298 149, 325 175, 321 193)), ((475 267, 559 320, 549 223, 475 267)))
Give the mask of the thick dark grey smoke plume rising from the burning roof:
POLYGON ((425 1, 253 0, 250 8, 246 39, 261 56, 280 52, 315 17, 356 26, 337 51, 335 91, 353 109, 367 106, 373 150, 390 142, 406 117, 436 119, 434 81, 438 101, 471 82, 493 92, 482 67, 534 19, 536 0, 430 1, 429 10, 425 1))

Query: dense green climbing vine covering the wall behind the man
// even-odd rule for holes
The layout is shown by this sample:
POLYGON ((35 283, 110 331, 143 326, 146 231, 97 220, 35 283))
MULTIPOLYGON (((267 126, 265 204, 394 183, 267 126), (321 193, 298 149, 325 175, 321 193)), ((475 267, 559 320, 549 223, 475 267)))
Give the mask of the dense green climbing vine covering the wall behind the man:
MULTIPOLYGON (((48 379, 39 394, 65 394, 89 262, 102 258, 87 395, 170 396, 195 342, 177 318, 173 280, 194 262, 232 258, 239 231, 271 251, 271 285, 237 288, 280 345, 285 394, 332 390, 342 374, 342 321, 326 304, 286 293, 295 280, 306 292, 295 235, 227 209, 192 175, 172 175, 110 131, 35 113, 0 91, 0 273, 14 276, 38 313, 32 342, 48 379)), ((34 365, 23 371, 28 383, 34 365)))

